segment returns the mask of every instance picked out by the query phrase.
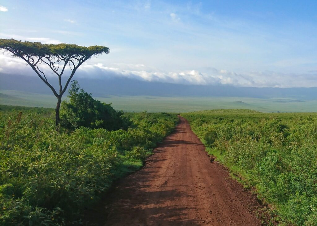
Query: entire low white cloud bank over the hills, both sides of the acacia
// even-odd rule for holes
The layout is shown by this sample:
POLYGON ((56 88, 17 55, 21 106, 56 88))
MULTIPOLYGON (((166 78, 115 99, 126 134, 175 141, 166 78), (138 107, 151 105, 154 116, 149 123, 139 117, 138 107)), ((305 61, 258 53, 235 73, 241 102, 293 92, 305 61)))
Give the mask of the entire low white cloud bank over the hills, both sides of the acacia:
MULTIPOLYGON (((33 70, 19 58, 8 53, 0 54, 0 71, 8 74, 24 74, 36 76, 33 70)), ((89 62, 88 62, 89 63, 89 62)), ((54 77, 48 68, 43 65, 47 77, 54 77)), ((67 68, 65 74, 70 71, 67 68)), ((251 87, 317 87, 317 72, 281 73, 281 72, 243 72, 207 68, 205 71, 184 70, 164 72, 147 67, 144 64, 113 63, 107 66, 102 63, 82 65, 76 73, 78 77, 126 77, 150 82, 165 82, 190 85, 233 85, 251 87)))

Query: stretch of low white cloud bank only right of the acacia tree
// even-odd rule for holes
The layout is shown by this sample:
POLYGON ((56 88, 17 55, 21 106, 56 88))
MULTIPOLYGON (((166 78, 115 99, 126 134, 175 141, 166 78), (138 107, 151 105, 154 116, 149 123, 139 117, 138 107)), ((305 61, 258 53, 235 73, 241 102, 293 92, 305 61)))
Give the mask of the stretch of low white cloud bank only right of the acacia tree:
POLYGON ((317 73, 277 73, 277 72, 244 72, 236 73, 228 70, 210 68, 207 72, 197 70, 179 72, 161 72, 139 64, 115 64, 103 66, 102 63, 83 65, 81 72, 97 77, 118 76, 145 81, 158 81, 174 84, 191 85, 234 85, 252 87, 315 87, 317 73))

